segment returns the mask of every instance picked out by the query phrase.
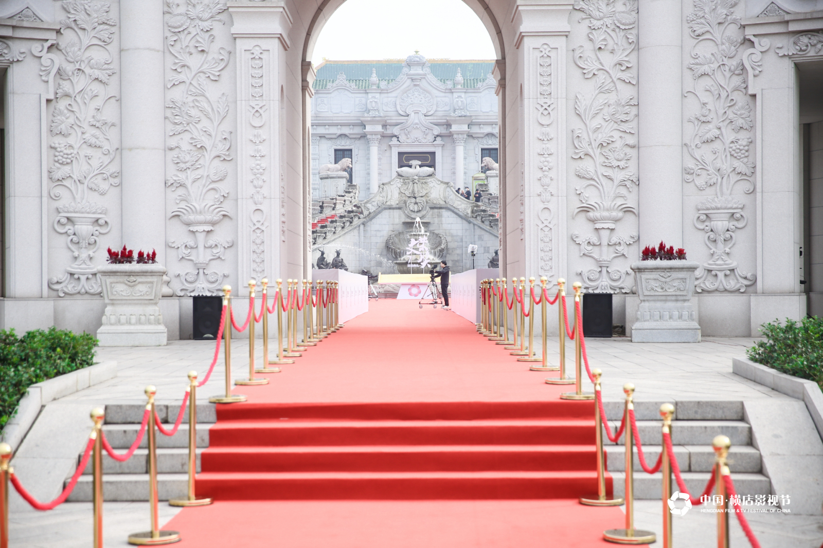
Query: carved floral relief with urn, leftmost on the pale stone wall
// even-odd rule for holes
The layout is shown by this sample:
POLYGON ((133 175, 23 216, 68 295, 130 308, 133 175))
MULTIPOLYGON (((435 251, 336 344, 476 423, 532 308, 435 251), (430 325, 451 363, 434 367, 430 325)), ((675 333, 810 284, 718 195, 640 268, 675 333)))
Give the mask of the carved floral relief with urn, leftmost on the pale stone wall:
POLYGON ((67 235, 75 261, 62 276, 49 279, 58 295, 97 295, 102 288, 97 268, 91 263, 100 235, 111 230, 106 208, 92 201, 93 193, 105 195, 119 184, 118 136, 113 131, 117 97, 109 92, 114 75, 109 44, 117 22, 109 16, 109 4, 93 0, 63 0, 66 16, 60 21, 56 49, 53 44, 34 49, 41 58, 44 81, 58 78, 49 119, 49 197, 68 202, 58 206, 54 230, 67 235))

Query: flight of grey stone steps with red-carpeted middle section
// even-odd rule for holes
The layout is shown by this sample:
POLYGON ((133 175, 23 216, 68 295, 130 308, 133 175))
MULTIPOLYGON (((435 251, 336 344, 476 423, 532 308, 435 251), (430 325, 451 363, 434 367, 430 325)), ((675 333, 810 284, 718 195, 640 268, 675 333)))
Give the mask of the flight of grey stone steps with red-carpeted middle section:
MULTIPOLYGON (((711 440, 726 434, 738 492, 769 494, 741 402, 691 403, 678 405, 672 428, 689 489, 703 489, 714 461, 711 440)), ((616 423, 620 402, 606 407, 616 423)), ((660 451, 658 407, 635 407, 649 466, 660 451)), ((132 443, 143 408, 107 406, 104 430, 114 448, 132 443)), ((158 412, 166 422, 177 411, 158 412)), ((597 487, 591 402, 202 404, 198 419, 198 495, 216 499, 551 499, 597 487)), ((186 424, 158 442, 160 499, 184 497, 186 424)), ((622 495, 624 449, 606 450, 614 492, 622 495)), ((106 500, 148 498, 146 449, 123 463, 105 456, 104 471, 106 500)), ((642 472, 636 454, 635 472, 636 497, 659 499, 659 472, 642 472)), ((91 500, 91 467, 70 500, 91 500)))

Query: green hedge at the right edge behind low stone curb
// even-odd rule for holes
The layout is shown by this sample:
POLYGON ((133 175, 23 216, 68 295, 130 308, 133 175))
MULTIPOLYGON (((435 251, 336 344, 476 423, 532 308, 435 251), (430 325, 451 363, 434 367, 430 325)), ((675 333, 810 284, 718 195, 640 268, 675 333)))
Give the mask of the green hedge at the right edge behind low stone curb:
POLYGON ((746 355, 749 360, 795 377, 815 381, 823 388, 823 319, 816 316, 800 322, 786 319, 781 325, 764 323, 765 341, 757 341, 746 355))

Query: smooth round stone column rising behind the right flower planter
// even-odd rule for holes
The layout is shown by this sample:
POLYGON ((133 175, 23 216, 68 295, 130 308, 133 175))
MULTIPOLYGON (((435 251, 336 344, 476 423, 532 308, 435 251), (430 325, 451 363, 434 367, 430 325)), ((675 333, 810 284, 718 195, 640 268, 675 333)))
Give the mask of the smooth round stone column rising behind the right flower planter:
POLYGON ((683 245, 682 14, 680 2, 638 6, 640 244, 683 245))

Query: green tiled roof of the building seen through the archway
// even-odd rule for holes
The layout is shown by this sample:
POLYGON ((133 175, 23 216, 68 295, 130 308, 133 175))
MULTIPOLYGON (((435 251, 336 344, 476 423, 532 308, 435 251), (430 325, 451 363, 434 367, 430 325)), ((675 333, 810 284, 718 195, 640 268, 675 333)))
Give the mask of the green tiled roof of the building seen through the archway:
MULTIPOLYGON (((430 59, 429 67, 431 74, 444 84, 453 80, 458 68, 463 77, 463 87, 476 88, 484 81, 486 76, 495 67, 494 61, 447 61, 430 59)), ((325 90, 337 81, 337 74, 342 72, 346 75, 346 81, 354 85, 359 90, 365 90, 370 86, 369 78, 371 70, 377 73, 381 81, 393 82, 403 69, 402 59, 386 59, 384 61, 323 61, 317 67, 317 79, 312 87, 315 90, 325 90)))

